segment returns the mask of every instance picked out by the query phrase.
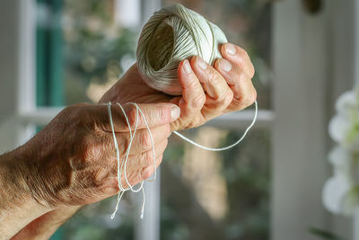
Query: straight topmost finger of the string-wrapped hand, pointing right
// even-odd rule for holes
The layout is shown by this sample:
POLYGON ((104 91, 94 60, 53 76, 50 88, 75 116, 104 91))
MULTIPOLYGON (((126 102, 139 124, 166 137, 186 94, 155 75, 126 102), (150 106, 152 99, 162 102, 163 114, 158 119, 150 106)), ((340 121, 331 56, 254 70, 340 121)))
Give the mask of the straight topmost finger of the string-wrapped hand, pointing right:
POLYGON ((172 103, 112 103, 106 107, 106 113, 101 111, 101 117, 105 122, 103 130, 111 131, 110 120, 115 132, 127 132, 131 129, 146 129, 168 124, 180 117, 180 108, 172 103), (110 118, 112 117, 112 118, 110 118), (107 124, 106 124, 107 122, 107 124))

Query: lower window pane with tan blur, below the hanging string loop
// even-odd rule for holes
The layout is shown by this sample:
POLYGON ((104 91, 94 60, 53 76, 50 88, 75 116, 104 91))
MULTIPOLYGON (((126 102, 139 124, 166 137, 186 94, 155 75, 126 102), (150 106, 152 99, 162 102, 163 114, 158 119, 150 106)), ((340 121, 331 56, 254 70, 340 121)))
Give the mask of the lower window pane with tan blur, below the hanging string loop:
MULTIPOLYGON (((186 132, 208 147, 241 135, 209 127, 186 132)), ((268 130, 251 130, 223 152, 172 137, 161 169, 161 239, 268 239, 270 156, 268 130)))

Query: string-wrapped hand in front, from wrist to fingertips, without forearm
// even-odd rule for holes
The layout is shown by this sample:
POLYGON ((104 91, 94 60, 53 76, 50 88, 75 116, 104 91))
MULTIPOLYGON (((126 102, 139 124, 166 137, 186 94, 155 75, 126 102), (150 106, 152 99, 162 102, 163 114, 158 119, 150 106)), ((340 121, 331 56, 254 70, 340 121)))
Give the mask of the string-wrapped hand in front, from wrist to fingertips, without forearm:
MULTIPOLYGON (((169 123, 177 119, 180 110, 170 103, 138 106, 144 111, 151 128, 155 160, 156 164, 160 164, 170 135, 169 123)), ((134 129, 136 107, 123 107, 134 129)), ((112 105, 111 110, 122 160, 130 141, 129 129, 120 108, 112 105)), ((154 171, 151 138, 145 129, 144 120, 140 116, 138 120, 127 165, 131 185, 148 178, 154 171)), ((85 104, 66 108, 25 145, 28 149, 38 150, 39 146, 42 149, 33 153, 33 160, 22 163, 25 166, 23 171, 29 174, 29 189, 39 202, 52 207, 83 205, 118 192, 118 163, 107 106, 85 104)), ((125 180, 121 181, 127 187, 125 180)))

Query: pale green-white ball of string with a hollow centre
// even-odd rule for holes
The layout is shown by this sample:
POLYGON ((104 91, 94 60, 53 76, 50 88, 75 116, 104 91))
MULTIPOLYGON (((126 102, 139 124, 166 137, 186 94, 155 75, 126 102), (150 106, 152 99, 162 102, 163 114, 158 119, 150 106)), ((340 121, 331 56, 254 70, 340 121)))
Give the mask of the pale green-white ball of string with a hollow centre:
POLYGON ((181 4, 155 12, 138 40, 137 67, 144 82, 156 90, 180 95, 180 61, 198 55, 212 65, 222 58, 219 45, 227 39, 219 27, 181 4))

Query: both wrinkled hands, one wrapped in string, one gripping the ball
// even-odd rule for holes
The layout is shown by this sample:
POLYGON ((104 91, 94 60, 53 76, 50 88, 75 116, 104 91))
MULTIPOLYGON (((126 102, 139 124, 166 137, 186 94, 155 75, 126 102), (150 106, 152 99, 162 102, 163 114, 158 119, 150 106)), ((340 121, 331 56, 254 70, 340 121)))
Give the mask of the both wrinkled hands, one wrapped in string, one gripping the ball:
MULTIPOLYGON (((231 43, 223 44, 221 52, 223 58, 217 59, 214 67, 198 57, 180 63, 178 75, 182 96, 173 97, 153 90, 144 84, 134 65, 100 102, 143 103, 139 106, 150 122, 158 165, 171 131, 200 126, 223 113, 242 110, 255 101, 256 91, 251 83, 254 67, 248 54, 231 43)), ((126 111, 134 125, 136 110, 128 105, 126 111)), ((127 123, 115 105, 112 114, 123 155, 129 138, 127 123)), ((127 175, 130 183, 136 184, 154 171, 152 146, 143 122, 140 122, 133 144, 127 175)), ((47 227, 41 226, 51 221, 59 226, 79 206, 118 192, 117 163, 106 106, 70 106, 21 148, 25 161, 22 167, 15 169, 20 168, 20 182, 26 184, 19 183, 16 189, 29 192, 27 198, 36 200, 40 210, 39 218, 22 228, 14 239, 29 238, 35 227, 45 229, 47 227), (64 214, 60 217, 58 212, 64 214)), ((121 181, 126 186, 126 182, 121 181)), ((40 233, 37 239, 51 236, 57 227, 40 233)))

